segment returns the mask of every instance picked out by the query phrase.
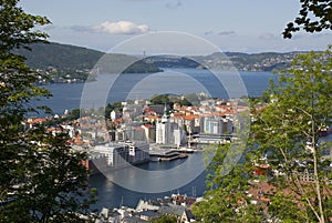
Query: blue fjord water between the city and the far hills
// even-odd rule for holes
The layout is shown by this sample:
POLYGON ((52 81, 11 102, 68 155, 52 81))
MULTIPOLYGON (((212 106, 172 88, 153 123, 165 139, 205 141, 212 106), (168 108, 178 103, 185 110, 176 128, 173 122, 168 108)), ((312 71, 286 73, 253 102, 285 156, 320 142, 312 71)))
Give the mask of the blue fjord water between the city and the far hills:
MULTIPOLYGON (((227 99, 227 92, 222 89, 224 87, 218 84, 214 75, 207 75, 208 70, 197 69, 173 69, 165 70, 165 72, 156 74, 146 73, 134 73, 123 74, 114 82, 111 92, 107 95, 107 102, 124 101, 126 98, 142 99, 146 95, 154 95, 157 93, 173 93, 173 94, 188 94, 193 92, 207 92, 211 97, 227 99), (190 77, 189 79, 181 75, 190 77), (197 83, 200 82, 200 83, 197 83)), ((277 80, 277 75, 271 72, 239 72, 242 79, 249 97, 261 95, 269 85, 269 80, 277 80)), ((110 80, 110 74, 100 74, 98 81, 106 83, 110 80)), ((110 90, 105 85, 96 82, 85 83, 93 89, 89 92, 90 98, 93 99, 90 105, 97 108, 98 104, 104 105, 105 102, 102 100, 104 94, 107 94, 110 90), (105 92, 106 90, 106 92, 105 92), (98 101, 98 99, 101 99, 98 101)), ((222 83, 227 84, 227 83, 222 83)), ((63 114, 64 110, 77 109, 81 105, 82 91, 84 83, 54 83, 44 85, 53 94, 50 99, 42 99, 35 104, 48 105, 54 113, 63 114)))

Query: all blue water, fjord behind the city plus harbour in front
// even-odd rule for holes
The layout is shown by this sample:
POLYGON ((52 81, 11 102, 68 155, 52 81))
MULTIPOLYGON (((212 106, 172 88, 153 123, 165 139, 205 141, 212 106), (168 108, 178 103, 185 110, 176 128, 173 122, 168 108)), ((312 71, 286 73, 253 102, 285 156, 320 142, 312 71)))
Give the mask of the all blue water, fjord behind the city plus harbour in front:
MULTIPOLYGON (((207 70, 197 69, 176 69, 166 70, 165 72, 157 74, 135 73, 123 74, 120 79, 113 82, 111 92, 108 93, 107 85, 98 85, 97 82, 89 82, 91 84, 92 92, 87 92, 90 99, 93 101, 92 105, 98 108, 98 104, 104 104, 104 100, 98 101, 108 93, 107 102, 123 101, 126 98, 129 99, 144 99, 146 95, 154 95, 158 93, 173 93, 173 94, 188 94, 193 92, 208 92, 211 97, 227 99, 227 92, 220 90, 222 85, 216 85, 216 78, 214 75, 207 75, 207 70), (184 77, 181 73, 186 73, 184 77), (189 79, 188 79, 189 77, 189 79), (191 78, 191 79, 190 79, 191 78)), ((268 88, 270 79, 277 80, 277 77, 271 72, 239 72, 242 79, 249 97, 259 97, 262 91, 268 88)), ((100 74, 98 81, 107 83, 110 79, 107 74, 100 74)), ((227 84, 227 83, 222 83, 227 84)), ((54 113, 63 114, 65 110, 72 110, 80 108, 82 91, 84 83, 55 83, 45 85, 53 97, 48 100, 41 100, 38 104, 45 104, 50 107, 54 113)), ((90 104, 91 105, 91 104, 90 104)), ((203 153, 190 154, 186 161, 201 160, 203 153)), ((144 164, 141 168, 155 171, 155 170, 168 170, 179 165, 184 160, 175 160, 172 162, 151 162, 144 164)), ((191 162, 195 165, 195 162, 191 162)), ((142 180, 142 179, 141 179, 142 180)), ((175 179, 169 179, 167 175, 160 179, 162 184, 168 184, 175 179)), ((93 209, 116 207, 120 205, 127 205, 134 207, 139 199, 148 200, 163 196, 169 196, 172 193, 180 193, 187 195, 201 196, 204 194, 206 173, 203 172, 196 179, 193 179, 187 185, 172 189, 163 193, 142 193, 122 187, 112 181, 110 181, 103 174, 96 174, 90 176, 90 186, 96 187, 98 191, 98 202, 93 205, 93 209)), ((144 180, 143 180, 144 181, 144 180)), ((151 183, 146 179, 146 183, 151 183)))

